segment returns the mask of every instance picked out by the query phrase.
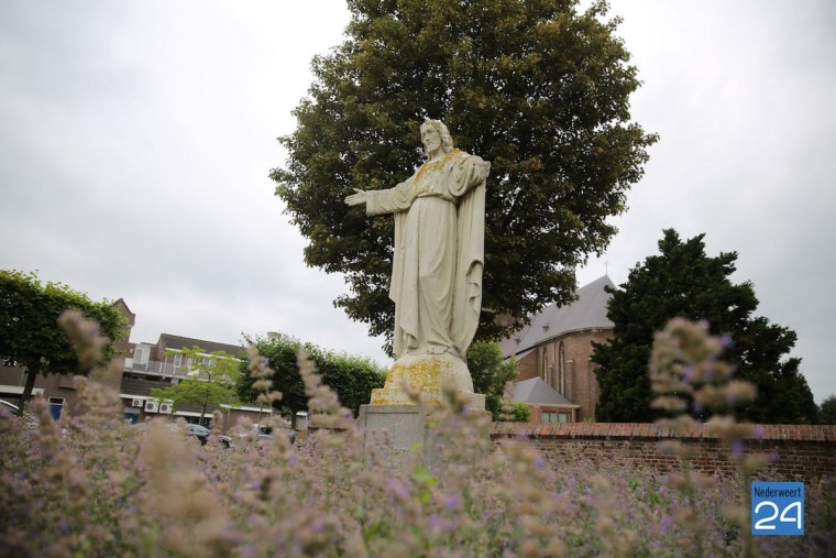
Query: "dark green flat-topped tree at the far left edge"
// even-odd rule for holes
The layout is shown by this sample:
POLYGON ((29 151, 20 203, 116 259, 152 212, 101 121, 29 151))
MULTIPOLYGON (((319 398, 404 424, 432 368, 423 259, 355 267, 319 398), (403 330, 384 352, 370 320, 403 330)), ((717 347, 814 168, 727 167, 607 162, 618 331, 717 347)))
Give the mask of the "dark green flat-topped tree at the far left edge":
POLYGON ((26 370, 21 409, 38 374, 89 372, 79 365, 67 333, 58 325, 58 317, 67 309, 79 310, 99 324, 99 333, 108 339, 105 360, 110 360, 114 342, 128 332, 125 319, 112 302, 94 302, 63 283, 43 284, 34 272, 0 270, 0 359, 4 365, 26 370))

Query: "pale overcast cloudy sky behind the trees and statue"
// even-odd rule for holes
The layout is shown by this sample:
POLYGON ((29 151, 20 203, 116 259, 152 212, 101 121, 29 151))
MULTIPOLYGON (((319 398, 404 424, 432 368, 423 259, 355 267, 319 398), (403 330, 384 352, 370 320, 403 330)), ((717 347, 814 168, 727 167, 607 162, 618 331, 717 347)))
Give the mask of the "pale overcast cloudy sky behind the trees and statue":
MULTIPOLYGON (((616 284, 666 228, 739 253, 758 314, 799 335, 817 402, 836 394, 836 4, 610 2, 660 134, 579 271, 616 284)), ((0 3, 0 269, 124 298, 131 340, 237 343, 283 331, 389 360, 331 300, 342 277, 302 263, 273 196, 309 63, 337 45, 343 0, 0 3)))

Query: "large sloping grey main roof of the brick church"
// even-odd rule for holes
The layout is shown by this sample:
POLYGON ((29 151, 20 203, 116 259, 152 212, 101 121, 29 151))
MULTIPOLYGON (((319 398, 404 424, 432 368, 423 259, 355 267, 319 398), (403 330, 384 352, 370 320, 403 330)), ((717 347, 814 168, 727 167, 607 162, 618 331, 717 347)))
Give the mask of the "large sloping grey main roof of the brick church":
POLYGON ((578 299, 572 304, 563 307, 552 304, 535 314, 527 326, 499 343, 503 354, 519 358, 521 352, 564 333, 612 328, 613 321, 607 318, 612 295, 605 291, 607 286, 615 287, 615 284, 604 275, 579 288, 578 299))

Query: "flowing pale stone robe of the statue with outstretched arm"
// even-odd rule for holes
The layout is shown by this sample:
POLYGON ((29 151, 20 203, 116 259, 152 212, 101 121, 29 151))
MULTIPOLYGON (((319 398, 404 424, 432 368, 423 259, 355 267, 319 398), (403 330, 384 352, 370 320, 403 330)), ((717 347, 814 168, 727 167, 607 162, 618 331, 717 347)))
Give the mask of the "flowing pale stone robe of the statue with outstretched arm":
POLYGON ((465 358, 482 308, 488 165, 453 150, 387 190, 366 192, 366 214, 395 214, 389 298, 394 354, 465 358))

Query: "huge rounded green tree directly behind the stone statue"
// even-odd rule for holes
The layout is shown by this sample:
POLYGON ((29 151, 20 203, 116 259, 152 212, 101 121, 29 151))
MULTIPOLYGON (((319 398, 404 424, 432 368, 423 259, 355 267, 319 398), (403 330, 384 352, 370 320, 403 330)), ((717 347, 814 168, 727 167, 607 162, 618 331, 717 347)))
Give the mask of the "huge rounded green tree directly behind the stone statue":
POLYGON ((349 0, 346 40, 312 62, 315 81, 279 138, 276 194, 309 240, 305 260, 344 273, 336 300, 392 336, 393 220, 343 203, 422 161, 420 123, 443 120, 457 144, 492 163, 477 338, 572 299, 574 270, 600 254, 642 175, 656 136, 630 122, 639 86, 606 3, 578 0, 349 0))

